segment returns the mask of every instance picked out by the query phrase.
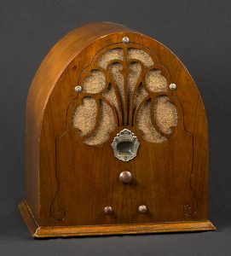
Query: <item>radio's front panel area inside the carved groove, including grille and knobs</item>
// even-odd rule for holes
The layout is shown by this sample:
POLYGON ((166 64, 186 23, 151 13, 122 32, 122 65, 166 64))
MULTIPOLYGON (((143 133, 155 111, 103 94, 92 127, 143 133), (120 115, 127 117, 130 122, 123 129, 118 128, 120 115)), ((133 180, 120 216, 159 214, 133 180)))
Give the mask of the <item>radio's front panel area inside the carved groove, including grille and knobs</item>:
POLYGON ((199 218, 194 137, 174 83, 154 49, 126 38, 82 69, 65 129, 54 138, 58 186, 50 216, 57 225, 199 218))

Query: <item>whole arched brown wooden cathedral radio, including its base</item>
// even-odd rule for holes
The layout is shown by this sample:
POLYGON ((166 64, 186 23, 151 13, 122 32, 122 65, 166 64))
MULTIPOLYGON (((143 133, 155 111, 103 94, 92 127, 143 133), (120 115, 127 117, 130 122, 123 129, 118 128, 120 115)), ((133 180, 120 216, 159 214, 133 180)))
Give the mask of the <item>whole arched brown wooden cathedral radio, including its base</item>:
POLYGON ((215 230, 199 90, 169 49, 100 22, 62 38, 26 105, 34 237, 215 230))

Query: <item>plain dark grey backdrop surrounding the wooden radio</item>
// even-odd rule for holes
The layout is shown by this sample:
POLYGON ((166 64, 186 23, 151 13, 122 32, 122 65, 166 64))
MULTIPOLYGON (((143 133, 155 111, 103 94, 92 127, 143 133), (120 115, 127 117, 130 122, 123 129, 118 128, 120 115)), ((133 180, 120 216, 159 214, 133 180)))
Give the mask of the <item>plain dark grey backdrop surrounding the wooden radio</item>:
POLYGON ((0 1, 0 255, 231 255, 231 2, 0 1), (210 219, 216 232, 33 240, 24 196, 26 96, 49 49, 84 23, 107 20, 169 47, 205 102, 210 132, 210 219))

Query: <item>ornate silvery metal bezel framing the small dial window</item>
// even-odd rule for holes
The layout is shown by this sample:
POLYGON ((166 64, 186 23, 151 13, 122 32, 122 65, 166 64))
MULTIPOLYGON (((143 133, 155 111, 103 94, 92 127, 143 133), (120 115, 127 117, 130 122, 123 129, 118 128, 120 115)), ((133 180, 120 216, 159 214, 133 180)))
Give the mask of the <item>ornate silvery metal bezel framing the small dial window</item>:
POLYGON ((136 157, 137 150, 139 148, 139 141, 135 134, 127 129, 124 129, 123 131, 120 131, 116 137, 113 139, 112 147, 114 151, 114 156, 118 158, 118 160, 122 160, 124 162, 132 160, 134 157, 136 157), (121 154, 121 152, 118 149, 119 143, 130 143, 130 153, 129 154, 121 154))

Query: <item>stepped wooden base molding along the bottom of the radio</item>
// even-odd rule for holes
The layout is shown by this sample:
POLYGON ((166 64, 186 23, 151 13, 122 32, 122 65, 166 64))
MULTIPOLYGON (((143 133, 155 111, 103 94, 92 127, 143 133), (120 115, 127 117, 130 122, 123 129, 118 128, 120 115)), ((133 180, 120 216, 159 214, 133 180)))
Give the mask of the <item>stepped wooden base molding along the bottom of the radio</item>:
POLYGON ((114 224, 94 226, 53 226, 40 227, 32 215, 32 211, 25 201, 19 205, 20 213, 24 218, 28 230, 35 238, 65 237, 65 236, 109 236, 122 234, 151 234, 167 232, 193 232, 216 230, 209 220, 189 221, 159 224, 114 224))

